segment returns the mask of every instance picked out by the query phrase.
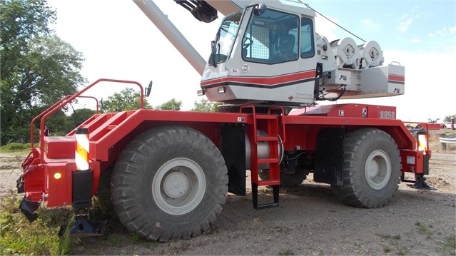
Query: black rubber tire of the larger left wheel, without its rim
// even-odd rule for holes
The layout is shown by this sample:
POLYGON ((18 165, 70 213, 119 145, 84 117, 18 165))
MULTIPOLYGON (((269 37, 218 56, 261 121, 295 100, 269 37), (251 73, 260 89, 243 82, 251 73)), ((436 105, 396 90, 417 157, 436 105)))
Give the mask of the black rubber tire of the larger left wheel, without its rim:
MULTIPOLYGON (((207 160, 206 160, 207 161, 207 160)), ((147 130, 138 135, 129 143, 119 156, 113 170, 111 178, 112 188, 111 197, 114 209, 119 220, 128 230, 135 231, 147 240, 158 240, 166 242, 168 240, 189 239, 190 237, 201 235, 202 230, 207 230, 209 225, 216 220, 218 213, 221 213, 222 205, 226 201, 228 192, 228 174, 225 161, 212 141, 197 130, 184 126, 162 126, 147 130), (143 205, 138 204, 139 193, 138 183, 146 170, 142 170, 139 160, 147 160, 148 155, 153 155, 158 149, 171 150, 166 145, 171 144, 189 145, 191 151, 205 151, 203 153, 214 155, 211 159, 215 166, 211 175, 216 177, 216 184, 207 184, 213 189, 211 195, 214 203, 211 203, 202 220, 193 220, 194 225, 178 227, 169 225, 166 228, 159 227, 160 222, 151 222, 150 211, 143 205), (214 152, 218 152, 214 153, 214 152), (131 205, 133 204, 133 205, 131 205), (148 214, 148 215, 147 215, 148 214)), ((208 180, 206 180, 208 183, 208 180)), ((207 192, 206 192, 207 193, 207 192)), ((206 195, 205 195, 206 198, 206 195)), ((203 199, 204 200, 204 199, 203 199)))

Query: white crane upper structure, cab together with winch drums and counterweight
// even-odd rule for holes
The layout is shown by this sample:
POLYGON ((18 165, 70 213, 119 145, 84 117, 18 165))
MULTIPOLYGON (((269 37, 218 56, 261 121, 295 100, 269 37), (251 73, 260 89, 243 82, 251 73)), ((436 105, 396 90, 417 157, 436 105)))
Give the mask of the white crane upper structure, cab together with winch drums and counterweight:
POLYGON ((223 19, 200 95, 234 105, 306 107, 315 101, 405 93, 405 68, 383 64, 379 44, 328 41, 300 1, 246 6, 223 19))

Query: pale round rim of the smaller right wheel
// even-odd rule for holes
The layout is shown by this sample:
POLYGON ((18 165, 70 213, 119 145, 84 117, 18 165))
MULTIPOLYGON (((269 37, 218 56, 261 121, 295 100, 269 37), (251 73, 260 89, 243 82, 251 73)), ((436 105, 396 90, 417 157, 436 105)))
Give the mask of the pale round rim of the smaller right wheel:
POLYGON ((391 176, 390 157, 383 150, 373 151, 366 159, 364 174, 370 188, 385 188, 391 176))

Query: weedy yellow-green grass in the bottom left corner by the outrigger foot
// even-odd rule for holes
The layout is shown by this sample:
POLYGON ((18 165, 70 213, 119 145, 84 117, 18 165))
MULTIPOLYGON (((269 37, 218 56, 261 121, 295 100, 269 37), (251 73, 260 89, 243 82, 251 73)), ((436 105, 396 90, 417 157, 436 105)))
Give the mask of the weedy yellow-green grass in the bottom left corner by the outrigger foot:
MULTIPOLYGON (((78 237, 69 235, 74 223, 74 210, 71 207, 44 208, 36 210, 39 217, 29 222, 19 210, 21 199, 18 195, 6 195, 0 205, 0 255, 69 255, 74 254, 78 237), (62 225, 66 225, 65 235, 58 236, 62 225)), ((111 205, 112 207, 112 205, 111 205)), ((103 236, 86 237, 93 244, 106 240, 111 247, 136 244, 141 238, 135 232, 128 232, 121 225, 106 200, 93 198, 91 216, 104 220, 103 236), (108 223, 106 223, 108 222, 108 223)), ((98 252, 99 253, 99 252, 98 252)))

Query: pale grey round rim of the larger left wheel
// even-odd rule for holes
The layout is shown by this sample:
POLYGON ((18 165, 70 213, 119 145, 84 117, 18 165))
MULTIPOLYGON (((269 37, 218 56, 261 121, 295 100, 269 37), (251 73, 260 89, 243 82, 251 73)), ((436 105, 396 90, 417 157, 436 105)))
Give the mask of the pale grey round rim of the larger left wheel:
POLYGON ((171 215, 191 212, 201 203, 205 191, 203 169, 188 158, 174 158, 164 163, 152 180, 154 202, 171 215))

